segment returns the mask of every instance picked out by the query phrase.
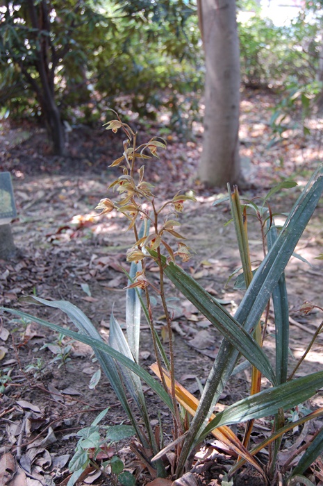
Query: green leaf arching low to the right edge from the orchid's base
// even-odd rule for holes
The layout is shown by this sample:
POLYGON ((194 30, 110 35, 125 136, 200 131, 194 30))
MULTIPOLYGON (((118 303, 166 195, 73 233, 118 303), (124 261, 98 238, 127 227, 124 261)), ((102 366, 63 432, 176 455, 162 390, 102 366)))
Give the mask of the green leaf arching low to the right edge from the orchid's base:
MULTIPOLYGON (((251 419, 261 419, 262 417, 275 414, 279 408, 290 410, 290 408, 299 405, 299 403, 310 399, 322 386, 323 371, 317 371, 317 373, 301 376, 301 378, 296 378, 277 387, 267 388, 255 395, 248 396, 247 399, 242 399, 230 405, 223 412, 218 413, 215 419, 206 426, 199 440, 206 437, 213 428, 240 424, 240 422, 251 419)), ((323 433, 321 441, 322 437, 323 433)), ((323 446, 323 442, 321 446, 323 446)), ((299 471, 299 473, 301 472, 299 471)))

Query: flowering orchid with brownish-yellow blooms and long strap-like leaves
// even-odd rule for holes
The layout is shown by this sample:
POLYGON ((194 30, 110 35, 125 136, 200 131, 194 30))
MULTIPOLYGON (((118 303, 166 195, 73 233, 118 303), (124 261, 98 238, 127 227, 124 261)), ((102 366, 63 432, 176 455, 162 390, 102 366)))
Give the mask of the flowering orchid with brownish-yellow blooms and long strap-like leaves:
MULTIPOLYGON (((164 140, 153 137, 149 142, 138 145, 137 134, 128 124, 122 122, 117 114, 116 118, 107 124, 107 128, 113 132, 121 130, 126 135, 123 144, 124 152, 111 165, 122 169, 122 174, 110 185, 110 189, 118 196, 115 200, 108 197, 102 199, 97 206, 101 210, 101 215, 109 212, 124 215, 129 221, 128 230, 133 231, 134 235, 134 244, 127 253, 127 260, 131 262, 131 267, 128 274, 129 283, 126 287, 126 335, 112 314, 109 342, 106 344, 88 317, 67 301, 46 301, 38 296, 29 298, 31 302, 63 310, 78 328, 78 333, 38 317, 31 317, 19 310, 3 310, 33 319, 52 330, 58 330, 63 335, 92 346, 101 369, 110 380, 135 433, 137 442, 131 449, 153 477, 181 477, 183 472, 190 468, 193 449, 211 433, 224 442, 235 456, 238 456, 237 462, 229 471, 229 480, 243 464, 248 462, 262 474, 267 483, 273 486, 278 482, 292 484, 295 481, 293 478, 304 474, 308 464, 312 464, 322 451, 323 428, 308 444, 308 449, 301 456, 295 469, 292 469, 290 462, 279 463, 278 452, 283 437, 306 421, 321 417, 323 408, 292 422, 285 419, 285 412, 289 412, 315 395, 317 389, 323 386, 323 371, 300 378, 294 378, 295 371, 289 374, 288 299, 283 272, 294 255, 295 246, 322 196, 323 176, 320 175, 320 170, 310 178, 281 228, 277 228, 274 224, 275 215, 268 199, 277 190, 292 187, 294 183, 288 181, 274 187, 265 196, 260 206, 257 206, 254 201, 246 201, 242 204, 238 188, 233 187, 231 190, 229 187, 227 199, 231 204, 246 287, 245 296, 233 317, 217 299, 177 264, 179 260, 187 262, 192 256, 187 240, 179 233, 178 215, 188 201, 194 201, 194 195, 190 191, 180 192, 158 204, 154 196, 154 186, 144 179, 144 165, 138 167, 137 162, 147 162, 151 156, 158 157, 158 150, 165 149, 164 140), (249 217, 247 208, 255 211, 263 237, 265 256, 256 271, 251 268, 247 237, 249 217), (158 286, 155 280, 153 282, 149 277, 148 263, 156 265, 158 269, 158 286), (193 303, 223 336, 200 401, 176 381, 172 312, 169 311, 169 299, 165 290, 166 278, 171 280, 181 294, 193 303), (155 296, 163 306, 167 346, 163 346, 155 326, 156 318, 154 305, 152 305, 156 300, 155 296), (274 366, 263 349, 266 328, 262 316, 271 296, 276 326, 274 366), (153 378, 140 365, 141 314, 149 324, 156 355, 156 363, 151 366, 151 370, 160 381, 153 378), (234 373, 241 356, 252 366, 250 394, 247 398, 232 403, 223 412, 214 414, 213 410, 220 394, 234 373), (268 385, 265 389, 261 385, 262 377, 267 378, 268 385), (160 419, 156 428, 151 426, 141 380, 147 383, 167 405, 169 414, 172 416, 172 438, 166 447, 163 421, 160 419), (132 401, 129 401, 129 396, 132 401), (138 414, 140 414, 140 424, 138 414), (191 421, 188 415, 192 416, 191 421), (270 419, 274 417, 272 433, 256 447, 249 446, 254 420, 262 417, 270 417, 270 419), (229 426, 242 423, 246 423, 245 436, 240 440, 229 426), (174 458, 171 462, 167 460, 169 449, 174 450, 174 458), (260 462, 257 457, 257 453, 262 449, 267 449, 269 454, 266 464, 260 462)), ((80 435, 76 458, 81 457, 82 460, 77 462, 74 459, 72 462, 73 474, 76 474, 76 471, 80 473, 81 469, 92 460, 90 449, 94 448, 93 457, 95 457, 96 451, 101 447, 101 435, 97 430, 97 423, 92 424, 92 428, 81 431, 80 435)), ((105 440, 108 442, 107 437, 105 440)), ((123 472, 126 471, 122 471, 119 460, 111 459, 109 466, 115 474, 115 479, 120 481, 123 472)))

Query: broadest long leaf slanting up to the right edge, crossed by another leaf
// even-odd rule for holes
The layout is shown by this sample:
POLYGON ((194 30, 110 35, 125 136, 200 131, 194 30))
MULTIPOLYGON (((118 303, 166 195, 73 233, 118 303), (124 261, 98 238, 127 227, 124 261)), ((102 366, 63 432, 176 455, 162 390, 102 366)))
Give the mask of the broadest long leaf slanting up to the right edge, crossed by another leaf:
MULTIPOLYGON (((316 176, 317 173, 315 173, 316 176)), ((314 176, 313 176, 314 177, 314 176)), ((313 180, 310 181, 312 183, 313 180)), ((248 290, 235 313, 235 319, 244 324, 248 332, 258 323, 271 292, 281 278, 281 274, 290 259, 290 255, 306 228, 308 221, 317 206, 323 192, 323 178, 320 176, 310 187, 306 185, 299 199, 297 199, 290 215, 285 221, 283 229, 274 246, 260 265, 249 285, 248 290)), ((199 435, 199 431, 207 425, 210 412, 229 380, 239 357, 239 351, 224 337, 217 358, 206 381, 204 392, 199 402, 199 408, 194 415, 189 433, 185 438, 178 471, 181 474, 185 462, 199 435)), ((258 368, 258 366, 257 366, 258 368)))

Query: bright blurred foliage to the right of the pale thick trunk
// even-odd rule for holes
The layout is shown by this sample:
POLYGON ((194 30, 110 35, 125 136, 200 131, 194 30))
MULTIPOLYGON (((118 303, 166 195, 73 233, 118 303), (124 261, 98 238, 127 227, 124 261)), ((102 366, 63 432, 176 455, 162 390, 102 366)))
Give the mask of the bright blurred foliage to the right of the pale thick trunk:
POLYGON ((242 81, 251 87, 274 87, 279 95, 270 121, 270 146, 298 126, 308 135, 306 119, 317 101, 322 105, 322 4, 308 2, 292 24, 283 27, 263 18, 254 1, 242 2, 242 8, 249 11, 247 20, 239 22, 242 81))

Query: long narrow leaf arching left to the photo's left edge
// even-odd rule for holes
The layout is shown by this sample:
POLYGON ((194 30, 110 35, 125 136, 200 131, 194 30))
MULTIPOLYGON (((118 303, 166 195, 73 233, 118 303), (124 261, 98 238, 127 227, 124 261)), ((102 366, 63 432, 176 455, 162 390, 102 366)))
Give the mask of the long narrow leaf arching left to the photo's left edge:
POLYGON ((147 383, 147 385, 149 385, 149 387, 151 387, 151 389, 154 390, 154 392, 156 392, 156 394, 165 403, 165 405, 167 405, 167 407, 173 411, 172 401, 171 399, 169 399, 169 396, 165 392, 165 389, 162 387, 162 385, 160 385, 157 380, 152 378, 145 369, 139 366, 139 364, 133 362, 132 360, 129 360, 129 358, 126 358, 126 356, 122 355, 122 353, 119 353, 119 351, 111 348, 111 346, 108 346, 108 344, 106 344, 105 342, 81 333, 76 333, 74 330, 57 326, 56 324, 44 321, 44 319, 40 319, 39 317, 27 314, 26 312, 22 312, 21 310, 9 309, 5 307, 0 307, 0 310, 10 312, 10 314, 23 317, 24 319, 28 319, 33 322, 38 322, 38 324, 41 324, 42 326, 50 328, 51 330, 55 330, 56 332, 62 333, 63 335, 72 337, 72 339, 76 341, 81 341, 84 344, 88 344, 92 347, 92 349, 102 351, 103 354, 114 358, 127 368, 131 369, 133 373, 137 374, 145 383, 147 383))

